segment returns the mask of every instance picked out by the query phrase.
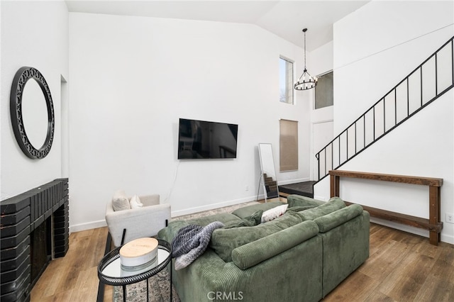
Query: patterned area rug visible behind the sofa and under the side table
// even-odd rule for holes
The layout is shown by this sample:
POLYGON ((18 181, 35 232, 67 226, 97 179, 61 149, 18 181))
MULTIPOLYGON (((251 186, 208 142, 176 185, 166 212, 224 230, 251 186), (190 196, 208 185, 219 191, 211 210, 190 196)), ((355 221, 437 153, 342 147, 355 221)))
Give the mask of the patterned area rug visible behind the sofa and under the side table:
MULTIPOLYGON (((189 214, 185 216, 178 216, 172 218, 172 220, 187 220, 203 216, 209 216, 216 213, 230 213, 235 211, 237 208, 243 206, 250 206, 257 204, 257 201, 250 201, 247 203, 239 203, 233 206, 225 206, 223 208, 216 208, 214 210, 203 211, 199 213, 189 214)), ((147 301, 147 281, 140 281, 135 284, 126 286, 126 301, 128 302, 142 302, 147 301)), ((148 298, 149 301, 153 302, 167 302, 170 301, 170 290, 169 290, 169 272, 167 269, 163 269, 162 272, 148 279, 148 298)), ((114 301, 123 301, 123 289, 122 286, 114 286, 114 301)), ((177 291, 172 286, 172 302, 179 302, 177 291)))

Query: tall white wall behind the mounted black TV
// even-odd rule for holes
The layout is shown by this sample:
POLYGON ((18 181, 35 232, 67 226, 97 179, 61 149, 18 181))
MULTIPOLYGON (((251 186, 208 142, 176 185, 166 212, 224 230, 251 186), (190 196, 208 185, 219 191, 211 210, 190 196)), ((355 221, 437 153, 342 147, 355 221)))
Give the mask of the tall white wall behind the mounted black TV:
POLYGON ((174 216, 255 200, 280 118, 299 121, 300 160, 277 179, 309 179, 309 96, 278 101, 279 55, 301 54, 248 24, 70 13, 72 230, 103 225, 117 189, 160 194, 174 216), (237 159, 177 160, 179 118, 237 123, 237 159))

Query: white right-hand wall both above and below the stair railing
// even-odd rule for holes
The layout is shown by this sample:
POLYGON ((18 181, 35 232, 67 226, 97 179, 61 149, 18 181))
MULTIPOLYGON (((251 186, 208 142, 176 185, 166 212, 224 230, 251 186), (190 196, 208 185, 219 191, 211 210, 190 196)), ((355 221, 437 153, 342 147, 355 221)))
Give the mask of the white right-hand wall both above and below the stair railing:
MULTIPOLYGON (((335 23, 335 135, 453 36, 453 13, 452 1, 372 1, 335 23)), ((341 169, 443 178, 445 221, 444 213, 454 211, 453 98, 453 91, 445 94, 341 169)), ((328 188, 326 178, 314 195, 328 198, 328 188)), ((428 189, 422 186, 345 179, 341 197, 428 217, 428 189)), ((425 230, 381 223, 428 236, 425 230)), ((454 225, 444 223, 441 240, 454 243, 454 225)))

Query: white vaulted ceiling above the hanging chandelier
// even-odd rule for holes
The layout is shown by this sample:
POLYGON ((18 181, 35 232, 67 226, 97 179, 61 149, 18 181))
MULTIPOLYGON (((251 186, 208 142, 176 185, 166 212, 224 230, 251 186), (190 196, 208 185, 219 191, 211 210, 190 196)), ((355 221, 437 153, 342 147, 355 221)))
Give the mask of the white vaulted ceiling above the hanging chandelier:
POLYGON ((304 45, 301 30, 308 28, 306 48, 311 51, 333 40, 333 23, 369 1, 66 0, 66 3, 70 12, 250 23, 300 47, 304 45))

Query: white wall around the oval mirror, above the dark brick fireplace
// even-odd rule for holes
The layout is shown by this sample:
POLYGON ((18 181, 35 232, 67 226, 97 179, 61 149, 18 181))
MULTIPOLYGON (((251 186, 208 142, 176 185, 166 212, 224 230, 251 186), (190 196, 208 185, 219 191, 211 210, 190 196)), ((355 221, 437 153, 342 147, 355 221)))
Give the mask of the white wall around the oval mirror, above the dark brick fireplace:
POLYGON ((60 76, 68 74, 68 12, 64 1, 1 1, 0 6, 3 200, 61 177, 60 76), (43 160, 31 160, 23 154, 11 126, 9 94, 13 77, 23 66, 38 69, 52 94, 55 135, 43 160))

